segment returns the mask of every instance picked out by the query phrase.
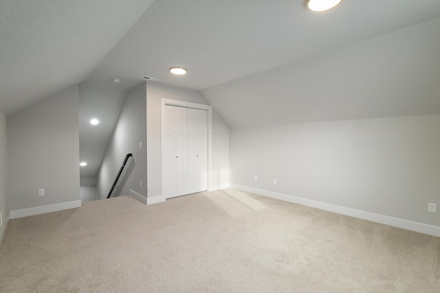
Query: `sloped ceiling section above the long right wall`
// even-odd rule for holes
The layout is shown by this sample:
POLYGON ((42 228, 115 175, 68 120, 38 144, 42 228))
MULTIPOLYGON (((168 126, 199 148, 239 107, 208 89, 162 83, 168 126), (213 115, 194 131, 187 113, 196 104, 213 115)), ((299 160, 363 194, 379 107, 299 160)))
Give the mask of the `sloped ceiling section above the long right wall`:
POLYGON ((201 90, 232 128, 440 113, 440 19, 201 90))

